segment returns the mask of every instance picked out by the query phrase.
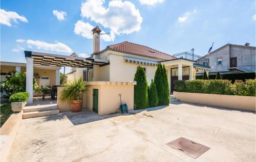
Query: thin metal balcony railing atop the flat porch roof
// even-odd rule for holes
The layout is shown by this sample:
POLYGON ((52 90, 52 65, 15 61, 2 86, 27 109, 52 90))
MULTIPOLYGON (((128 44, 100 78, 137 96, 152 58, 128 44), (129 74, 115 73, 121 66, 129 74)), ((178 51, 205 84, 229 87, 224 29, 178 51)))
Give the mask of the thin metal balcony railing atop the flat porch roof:
POLYGON ((182 53, 177 53, 173 56, 178 58, 178 59, 186 59, 186 60, 194 61, 198 65, 209 66, 209 59, 208 58, 202 57, 202 56, 199 56, 199 55, 195 55, 193 53, 182 52, 182 53))

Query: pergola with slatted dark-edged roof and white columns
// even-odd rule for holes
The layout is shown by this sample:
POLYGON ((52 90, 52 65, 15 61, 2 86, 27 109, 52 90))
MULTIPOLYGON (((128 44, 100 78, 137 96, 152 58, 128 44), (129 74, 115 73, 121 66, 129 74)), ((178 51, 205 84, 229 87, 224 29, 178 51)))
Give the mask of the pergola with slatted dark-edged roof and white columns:
MULTIPOLYGON (((25 51, 27 60, 26 65, 26 91, 30 94, 28 104, 33 103, 33 67, 34 65, 43 66, 67 66, 77 68, 93 68, 93 65, 104 65, 106 62, 95 61, 91 58, 81 58, 65 55, 56 55, 51 53, 41 53, 25 51)), ((56 69, 56 86, 59 86, 59 70, 56 69)))

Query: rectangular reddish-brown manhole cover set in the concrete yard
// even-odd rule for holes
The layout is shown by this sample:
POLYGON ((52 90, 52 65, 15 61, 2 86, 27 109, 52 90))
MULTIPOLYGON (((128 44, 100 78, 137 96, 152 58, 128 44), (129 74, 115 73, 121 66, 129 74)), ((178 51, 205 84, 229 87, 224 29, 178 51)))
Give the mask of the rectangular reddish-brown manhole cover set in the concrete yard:
POLYGON ((183 152, 184 154, 186 154, 190 157, 193 157, 193 158, 197 158, 198 156, 203 154, 205 151, 210 149, 207 146, 201 145, 197 142, 185 139, 183 137, 178 138, 172 142, 169 142, 166 145, 168 145, 180 152, 183 152))

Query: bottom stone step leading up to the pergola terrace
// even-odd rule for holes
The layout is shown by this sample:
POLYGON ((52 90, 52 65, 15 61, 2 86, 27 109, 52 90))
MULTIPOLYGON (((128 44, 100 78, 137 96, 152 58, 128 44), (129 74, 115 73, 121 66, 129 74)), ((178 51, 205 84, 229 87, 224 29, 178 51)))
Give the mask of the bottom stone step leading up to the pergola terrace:
POLYGON ((56 115, 56 114, 59 114, 59 110, 45 110, 45 111, 27 112, 27 113, 23 113, 23 119, 44 117, 44 116, 56 115))

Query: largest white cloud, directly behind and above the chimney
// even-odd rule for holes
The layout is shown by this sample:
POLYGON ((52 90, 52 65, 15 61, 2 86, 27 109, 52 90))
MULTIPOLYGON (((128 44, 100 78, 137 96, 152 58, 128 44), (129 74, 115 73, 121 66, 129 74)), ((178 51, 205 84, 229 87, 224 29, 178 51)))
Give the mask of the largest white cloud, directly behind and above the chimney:
MULTIPOLYGON (((109 3, 108 8, 105 8, 103 4, 104 0, 88 0, 81 5, 81 17, 89 18, 90 20, 101 24, 104 28, 110 29, 112 34, 104 36, 102 35, 102 39, 113 41, 115 34, 130 34, 140 30, 142 17, 140 16, 139 10, 135 8, 134 4, 129 1, 122 2, 115 0, 109 3)), ((77 22, 81 23, 82 21, 77 22)), ((89 28, 89 25, 83 25, 83 27, 89 28)), ((92 28, 90 26, 90 32, 91 30, 92 28)), ((79 30, 76 29, 75 31, 79 30)), ((86 38, 92 37, 88 35, 88 31, 80 31, 78 33, 84 37, 86 36, 86 38)))

